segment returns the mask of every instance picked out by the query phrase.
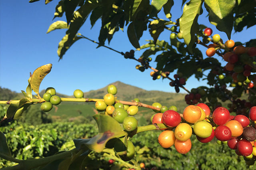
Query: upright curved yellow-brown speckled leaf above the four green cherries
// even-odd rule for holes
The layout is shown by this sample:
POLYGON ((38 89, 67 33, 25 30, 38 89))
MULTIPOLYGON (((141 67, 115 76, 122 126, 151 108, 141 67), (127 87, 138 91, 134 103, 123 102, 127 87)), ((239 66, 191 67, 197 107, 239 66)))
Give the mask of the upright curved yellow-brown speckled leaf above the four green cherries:
POLYGON ((32 90, 38 95, 39 98, 41 98, 39 95, 40 84, 44 79, 44 77, 48 73, 50 73, 51 69, 52 69, 52 64, 42 65, 41 67, 38 67, 32 74, 30 85, 32 90))

